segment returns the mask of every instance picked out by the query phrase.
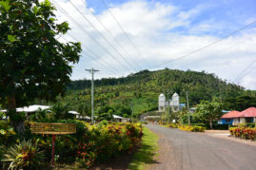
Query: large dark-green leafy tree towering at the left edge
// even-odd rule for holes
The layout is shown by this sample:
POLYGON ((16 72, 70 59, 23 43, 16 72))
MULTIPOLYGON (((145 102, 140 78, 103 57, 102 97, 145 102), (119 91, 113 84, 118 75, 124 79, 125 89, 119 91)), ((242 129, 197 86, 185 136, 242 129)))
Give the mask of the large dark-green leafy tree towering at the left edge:
POLYGON ((49 0, 0 0, 0 103, 10 120, 17 106, 63 94, 79 61, 80 43, 58 40, 69 24, 56 24, 53 10, 49 0))

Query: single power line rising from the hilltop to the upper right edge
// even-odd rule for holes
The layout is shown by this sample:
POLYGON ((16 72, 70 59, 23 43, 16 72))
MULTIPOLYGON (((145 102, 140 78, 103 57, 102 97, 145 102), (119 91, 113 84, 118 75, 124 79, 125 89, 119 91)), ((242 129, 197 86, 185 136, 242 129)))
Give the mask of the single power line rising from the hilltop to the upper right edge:
POLYGON ((191 51, 191 52, 188 53, 188 54, 182 55, 182 56, 180 56, 180 57, 178 57, 178 58, 176 58, 176 59, 173 59, 173 60, 171 60, 171 61, 167 61, 167 62, 165 62, 165 63, 159 64, 159 65, 156 65, 156 66, 152 66, 152 67, 150 67, 150 68, 154 68, 154 67, 157 67, 157 66, 167 65, 167 64, 173 63, 173 62, 175 62, 175 61, 177 61, 177 60, 181 60, 181 59, 183 59, 183 58, 186 58, 186 57, 188 57, 188 56, 190 56, 190 55, 192 55, 192 54, 194 54, 194 53, 200 52, 200 51, 204 50, 204 49, 207 48, 207 47, 211 47, 211 46, 213 46, 213 45, 216 45, 216 44, 218 44, 218 43, 224 41, 226 38, 228 38, 228 37, 230 37, 230 36, 232 36, 232 35, 234 35, 234 34, 240 32, 240 31, 242 31, 242 30, 248 28, 249 26, 254 25, 255 23, 256 23, 256 21, 253 21, 253 22, 251 22, 250 24, 247 24, 246 26, 244 26, 243 28, 239 28, 239 29, 237 29, 237 30, 235 30, 235 31, 233 31, 233 32, 231 32, 231 33, 229 33, 229 34, 227 34, 225 37, 223 37, 223 38, 221 38, 221 39, 219 39, 219 40, 217 40, 217 41, 215 41, 215 42, 213 42, 213 43, 211 43, 211 44, 208 44, 208 45, 205 46, 205 47, 200 47, 200 48, 198 48, 198 49, 196 49, 196 50, 194 50, 194 51, 191 51))

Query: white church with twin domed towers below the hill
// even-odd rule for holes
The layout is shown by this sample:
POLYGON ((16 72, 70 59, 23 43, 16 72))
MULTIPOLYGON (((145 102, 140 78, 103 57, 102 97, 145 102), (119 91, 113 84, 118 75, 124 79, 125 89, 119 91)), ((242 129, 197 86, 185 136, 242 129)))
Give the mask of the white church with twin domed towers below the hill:
POLYGON ((165 94, 161 93, 159 95, 158 97, 159 112, 166 111, 168 104, 173 112, 180 111, 180 97, 176 92, 172 95, 172 99, 170 99, 169 101, 167 101, 165 94))

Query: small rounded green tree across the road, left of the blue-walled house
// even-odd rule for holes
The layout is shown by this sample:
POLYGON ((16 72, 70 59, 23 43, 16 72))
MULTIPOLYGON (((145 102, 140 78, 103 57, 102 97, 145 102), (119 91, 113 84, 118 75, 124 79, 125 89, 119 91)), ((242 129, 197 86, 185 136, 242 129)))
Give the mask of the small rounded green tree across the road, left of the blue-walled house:
POLYGON ((222 105, 216 102, 203 101, 201 104, 197 104, 196 114, 202 121, 209 123, 212 129, 212 122, 220 119, 223 115, 222 105))

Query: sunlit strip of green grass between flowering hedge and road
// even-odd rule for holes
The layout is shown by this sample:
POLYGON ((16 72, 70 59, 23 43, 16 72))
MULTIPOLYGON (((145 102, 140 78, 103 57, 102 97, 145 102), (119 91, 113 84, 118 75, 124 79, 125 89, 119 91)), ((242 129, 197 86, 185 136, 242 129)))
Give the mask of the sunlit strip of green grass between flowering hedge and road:
POLYGON ((128 169, 143 170, 149 164, 155 163, 154 157, 158 149, 158 136, 151 132, 148 127, 144 126, 144 136, 142 138, 142 145, 138 151, 133 155, 132 161, 129 163, 128 169))

